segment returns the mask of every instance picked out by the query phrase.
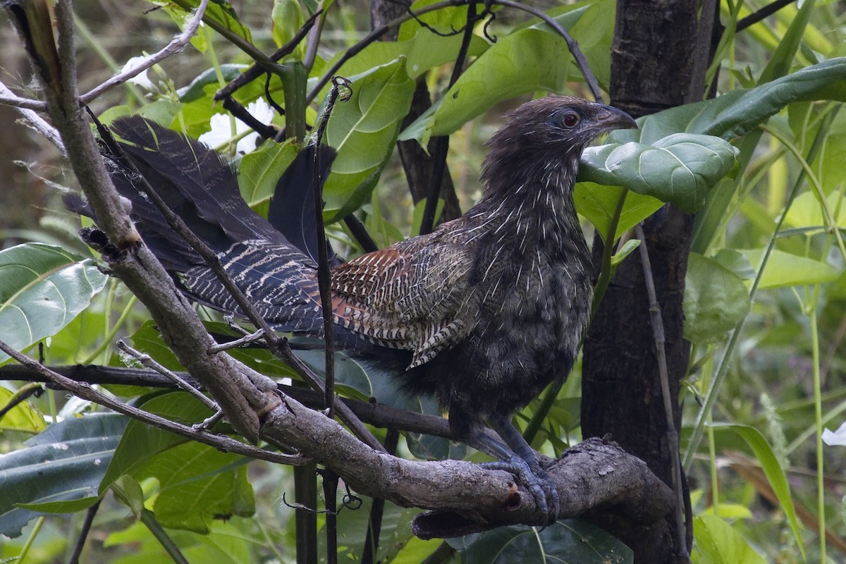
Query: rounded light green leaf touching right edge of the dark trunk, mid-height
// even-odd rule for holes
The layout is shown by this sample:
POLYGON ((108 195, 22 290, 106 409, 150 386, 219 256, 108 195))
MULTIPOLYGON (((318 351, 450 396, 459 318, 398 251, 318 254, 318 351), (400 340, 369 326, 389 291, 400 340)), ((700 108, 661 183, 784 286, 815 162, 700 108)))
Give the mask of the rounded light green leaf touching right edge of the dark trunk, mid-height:
POLYGON ((738 326, 751 307, 740 278, 717 260, 690 253, 684 277, 684 338, 715 342, 738 326))

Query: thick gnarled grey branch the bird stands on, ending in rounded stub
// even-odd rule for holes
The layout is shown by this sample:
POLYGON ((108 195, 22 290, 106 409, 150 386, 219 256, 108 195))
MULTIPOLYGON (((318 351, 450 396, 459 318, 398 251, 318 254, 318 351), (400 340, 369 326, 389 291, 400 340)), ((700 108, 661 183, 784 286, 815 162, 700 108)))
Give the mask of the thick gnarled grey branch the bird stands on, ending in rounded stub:
MULTIPOLYGON (((415 534, 423 538, 547 523, 546 513, 538 511, 533 496, 515 483, 512 474, 462 461, 424 463, 376 452, 332 419, 290 397, 268 414, 262 435, 332 468, 365 496, 436 510, 415 524, 415 534)), ((628 512, 633 521, 651 523, 673 507, 673 492, 667 485, 613 443, 599 439, 583 443, 547 471, 562 496, 559 518, 613 511, 618 518, 628 512)))

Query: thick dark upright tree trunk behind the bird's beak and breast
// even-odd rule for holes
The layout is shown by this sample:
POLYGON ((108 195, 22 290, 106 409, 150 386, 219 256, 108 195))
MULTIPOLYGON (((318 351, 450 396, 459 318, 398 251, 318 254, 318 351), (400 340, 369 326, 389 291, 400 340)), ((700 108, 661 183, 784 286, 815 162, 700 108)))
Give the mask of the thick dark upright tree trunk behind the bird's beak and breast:
MULTIPOLYGON (((611 62, 613 104, 637 117, 700 99, 716 9, 714 3, 700 7, 694 0, 618 0, 611 62), (701 19, 697 17, 700 8, 701 19)), ((664 320, 677 430, 681 422, 678 386, 689 359, 689 343, 682 338, 682 298, 692 225, 692 216, 673 206, 644 225, 664 320)), ((597 241, 594 256, 601 255, 602 243, 597 241)), ((636 252, 620 266, 585 338, 581 414, 585 438, 611 434, 672 484, 655 340, 636 252)), ((688 496, 686 489, 684 496, 688 496)), ((678 556, 684 551, 676 546, 672 516, 650 528, 603 524, 634 550, 637 563, 687 561, 678 556)), ((689 545, 689 532, 687 539, 689 545)))

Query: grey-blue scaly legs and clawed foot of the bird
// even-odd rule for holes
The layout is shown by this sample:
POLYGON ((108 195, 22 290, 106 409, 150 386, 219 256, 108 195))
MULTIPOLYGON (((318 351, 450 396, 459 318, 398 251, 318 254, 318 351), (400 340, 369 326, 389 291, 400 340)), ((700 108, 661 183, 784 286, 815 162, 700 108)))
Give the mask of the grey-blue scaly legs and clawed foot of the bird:
POLYGON ((506 444, 481 431, 476 432, 471 446, 499 458, 497 462, 481 463, 481 466, 492 470, 505 470, 516 475, 535 498, 538 509, 547 513, 548 523, 554 523, 561 509, 555 483, 547 471, 541 468, 535 452, 507 416, 498 415, 490 423, 506 444))

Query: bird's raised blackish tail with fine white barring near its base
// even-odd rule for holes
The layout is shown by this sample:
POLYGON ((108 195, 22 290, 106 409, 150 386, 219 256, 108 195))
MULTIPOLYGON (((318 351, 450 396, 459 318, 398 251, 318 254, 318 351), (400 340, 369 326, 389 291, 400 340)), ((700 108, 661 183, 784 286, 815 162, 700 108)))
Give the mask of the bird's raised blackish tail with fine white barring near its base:
MULTIPOLYGON (((320 332, 320 304, 314 298, 316 262, 311 258, 317 249, 311 182, 314 147, 300 151, 280 179, 268 222, 244 202, 234 171, 206 145, 137 116, 118 119, 111 129, 151 188, 214 249, 266 320, 280 331, 320 332)), ((325 178, 334 151, 328 147, 320 151, 321 178, 325 178)), ((201 256, 168 226, 118 156, 105 157, 118 192, 132 202, 131 215, 145 244, 184 292, 213 308, 238 313, 201 256)), ((66 196, 64 202, 69 210, 96 222, 79 196, 66 196)))

